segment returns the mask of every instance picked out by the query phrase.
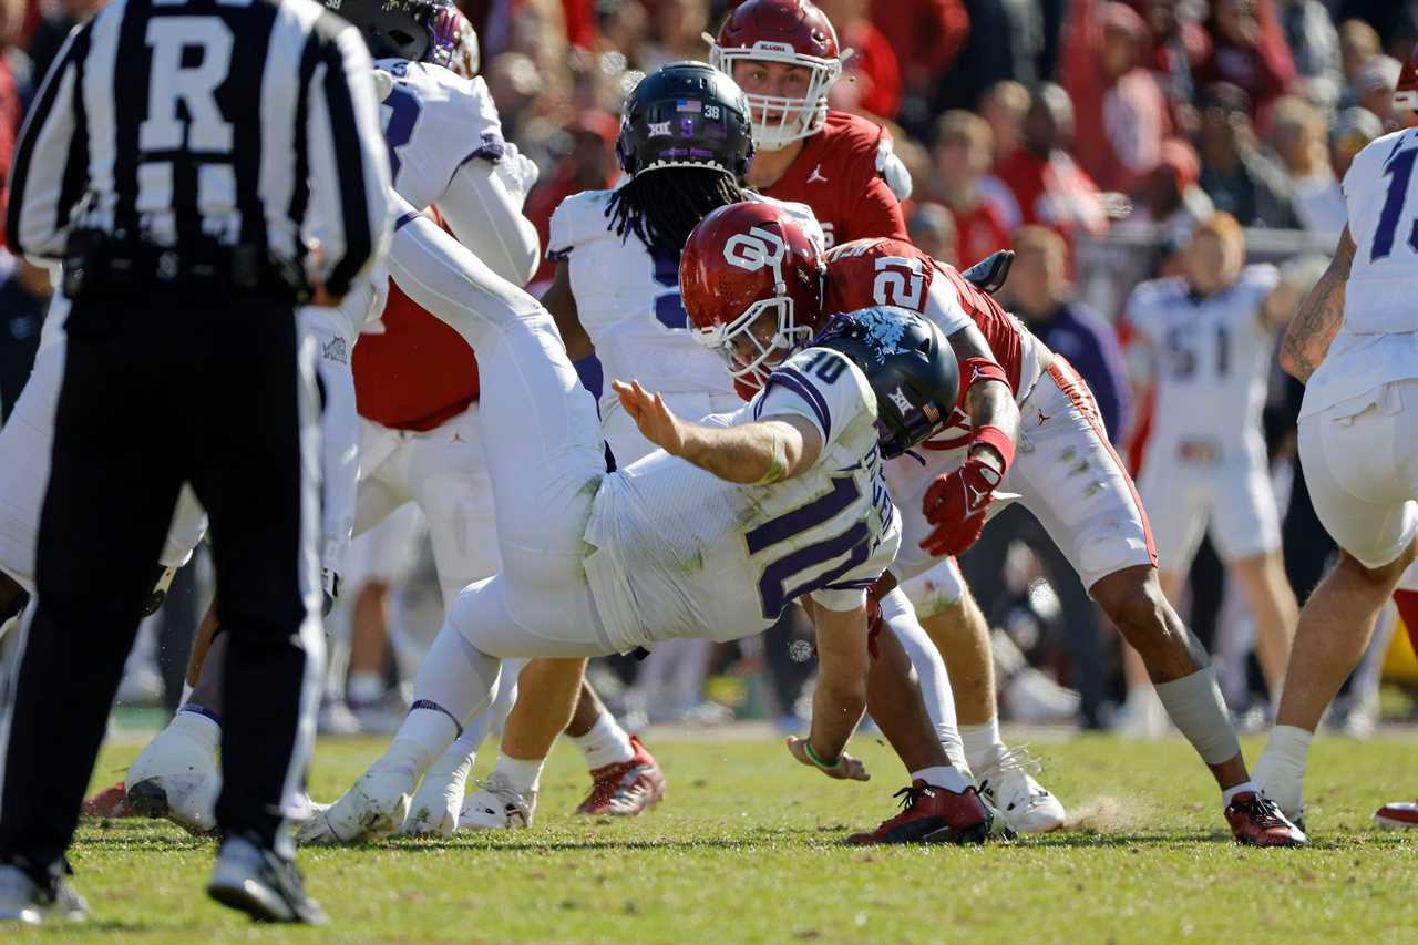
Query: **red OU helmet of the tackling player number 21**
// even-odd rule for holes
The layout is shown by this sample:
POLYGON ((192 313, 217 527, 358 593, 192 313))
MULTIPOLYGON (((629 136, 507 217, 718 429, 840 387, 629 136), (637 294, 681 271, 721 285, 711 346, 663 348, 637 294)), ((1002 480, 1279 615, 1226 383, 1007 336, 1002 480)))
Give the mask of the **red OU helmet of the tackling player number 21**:
POLYGON ((695 338, 729 363, 744 400, 822 318, 822 250, 767 203, 732 203, 699 221, 679 257, 695 338))

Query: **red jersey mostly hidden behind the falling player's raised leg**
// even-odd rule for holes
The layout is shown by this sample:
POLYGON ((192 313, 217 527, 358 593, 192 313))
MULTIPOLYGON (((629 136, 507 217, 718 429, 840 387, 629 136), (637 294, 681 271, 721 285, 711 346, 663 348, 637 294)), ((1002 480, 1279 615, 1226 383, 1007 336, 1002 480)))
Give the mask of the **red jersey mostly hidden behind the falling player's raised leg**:
POLYGON ((394 430, 432 430, 478 399, 472 348, 389 281, 384 333, 354 345, 354 402, 362 417, 394 430))

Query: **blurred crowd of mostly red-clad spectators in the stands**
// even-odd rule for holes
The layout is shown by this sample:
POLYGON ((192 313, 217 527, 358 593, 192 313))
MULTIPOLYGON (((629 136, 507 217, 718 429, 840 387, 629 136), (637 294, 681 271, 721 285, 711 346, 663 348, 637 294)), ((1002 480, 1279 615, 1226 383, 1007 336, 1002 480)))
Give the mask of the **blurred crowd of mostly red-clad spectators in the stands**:
MULTIPOLYGON (((542 167, 527 211, 618 175, 620 102, 644 71, 706 60, 732 3, 471 0, 509 138, 542 167)), ((1337 182, 1394 126, 1418 41, 1411 0, 824 0, 847 60, 832 108, 886 125, 909 217, 973 261, 1020 226, 1073 240, 1122 223, 1184 236, 1336 233, 1337 182)))

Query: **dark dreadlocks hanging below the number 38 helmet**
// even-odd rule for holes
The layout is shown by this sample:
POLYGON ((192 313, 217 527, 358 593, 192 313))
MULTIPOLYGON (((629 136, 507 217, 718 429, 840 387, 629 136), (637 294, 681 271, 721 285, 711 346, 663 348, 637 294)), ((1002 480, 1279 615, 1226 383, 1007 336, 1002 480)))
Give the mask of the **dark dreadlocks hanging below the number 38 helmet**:
POLYGON ((671 167, 640 173, 611 193, 605 207, 615 236, 635 234, 651 255, 678 257, 709 213, 747 199, 732 175, 716 167, 671 167))

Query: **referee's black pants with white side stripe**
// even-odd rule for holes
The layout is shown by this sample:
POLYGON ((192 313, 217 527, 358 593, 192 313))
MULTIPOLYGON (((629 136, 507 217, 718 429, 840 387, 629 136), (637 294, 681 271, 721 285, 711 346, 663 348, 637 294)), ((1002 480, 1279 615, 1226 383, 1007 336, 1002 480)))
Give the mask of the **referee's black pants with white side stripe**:
POLYGON ((223 831, 281 829, 323 670, 313 349, 268 297, 79 301, 40 518, 37 607, 0 724, 0 861, 61 868, 177 491, 211 522, 230 634, 223 831))

